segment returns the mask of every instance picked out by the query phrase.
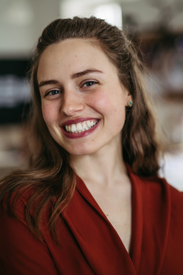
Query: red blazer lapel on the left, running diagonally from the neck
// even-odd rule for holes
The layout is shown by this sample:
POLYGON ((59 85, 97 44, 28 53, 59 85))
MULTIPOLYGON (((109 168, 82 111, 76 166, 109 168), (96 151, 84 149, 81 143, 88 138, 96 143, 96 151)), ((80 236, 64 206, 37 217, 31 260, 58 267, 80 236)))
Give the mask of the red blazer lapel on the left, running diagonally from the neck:
POLYGON ((136 275, 120 237, 80 178, 64 218, 96 275, 136 275))

